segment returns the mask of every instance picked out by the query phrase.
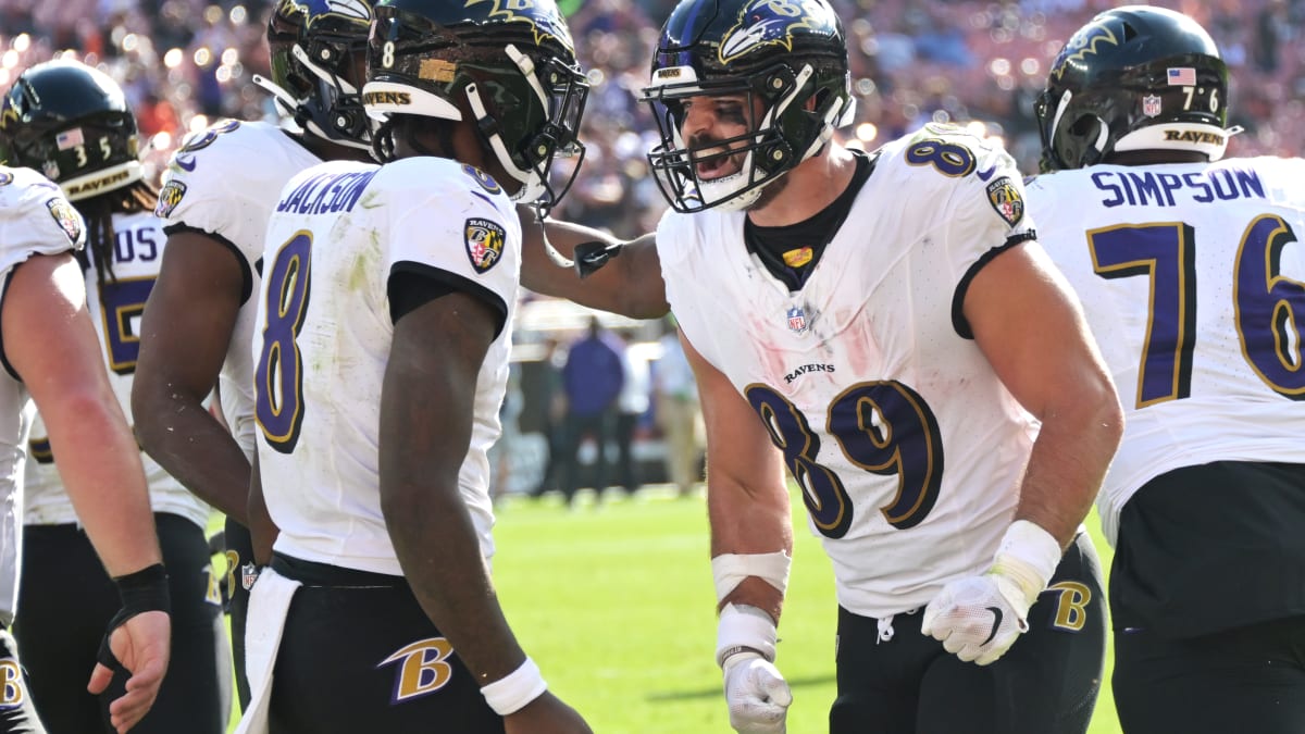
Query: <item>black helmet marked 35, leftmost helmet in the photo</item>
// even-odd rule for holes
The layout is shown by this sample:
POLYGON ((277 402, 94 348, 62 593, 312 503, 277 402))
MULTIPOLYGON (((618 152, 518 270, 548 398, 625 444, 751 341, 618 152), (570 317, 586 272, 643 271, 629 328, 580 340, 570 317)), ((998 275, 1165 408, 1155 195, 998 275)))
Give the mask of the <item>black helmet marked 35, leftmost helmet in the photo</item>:
POLYGON ((108 74, 80 61, 37 64, 0 104, 9 165, 35 168, 69 201, 141 180, 136 118, 108 74))

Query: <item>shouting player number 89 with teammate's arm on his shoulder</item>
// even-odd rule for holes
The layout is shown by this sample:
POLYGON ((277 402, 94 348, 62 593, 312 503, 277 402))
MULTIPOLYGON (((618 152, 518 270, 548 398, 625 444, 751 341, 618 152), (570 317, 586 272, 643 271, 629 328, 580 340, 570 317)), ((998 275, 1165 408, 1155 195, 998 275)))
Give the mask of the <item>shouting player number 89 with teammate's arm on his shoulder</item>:
MULTIPOLYGON (((523 282, 679 321, 731 725, 783 731, 792 700, 787 468, 834 566, 830 731, 1084 731, 1105 613, 1081 521, 1121 409, 1014 161, 937 124, 840 145, 847 46, 825 0, 683 0, 642 98, 672 210, 652 238, 578 248, 621 252, 587 285, 536 268, 540 247, 523 282)), ((589 232, 549 234, 566 251, 589 232)))

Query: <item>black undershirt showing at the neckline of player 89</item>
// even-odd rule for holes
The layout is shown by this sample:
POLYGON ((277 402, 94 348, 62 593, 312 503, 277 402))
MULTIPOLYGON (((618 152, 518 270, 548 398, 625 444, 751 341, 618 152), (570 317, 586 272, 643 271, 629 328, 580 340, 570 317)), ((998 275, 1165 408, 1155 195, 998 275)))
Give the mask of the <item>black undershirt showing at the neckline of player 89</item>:
POLYGON ((856 195, 874 171, 877 154, 872 157, 860 150, 852 150, 852 154, 856 155, 856 172, 852 174, 851 183, 833 204, 814 217, 779 227, 762 227, 752 223, 750 218, 744 221, 743 239, 748 252, 754 252, 770 274, 783 281, 788 290, 799 290, 806 282, 825 253, 825 247, 834 239, 848 212, 852 210, 856 195), (806 263, 799 265, 784 263, 786 252, 796 255, 804 247, 812 251, 806 263))

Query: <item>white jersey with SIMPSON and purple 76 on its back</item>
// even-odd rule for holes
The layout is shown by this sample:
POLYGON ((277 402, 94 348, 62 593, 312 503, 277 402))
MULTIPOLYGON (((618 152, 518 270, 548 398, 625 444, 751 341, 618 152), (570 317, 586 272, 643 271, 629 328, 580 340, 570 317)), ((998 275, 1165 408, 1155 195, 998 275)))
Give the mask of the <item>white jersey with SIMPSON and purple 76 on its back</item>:
POLYGON ((1098 499, 1211 461, 1305 462, 1305 161, 1094 166, 1028 185, 1125 410, 1098 499))

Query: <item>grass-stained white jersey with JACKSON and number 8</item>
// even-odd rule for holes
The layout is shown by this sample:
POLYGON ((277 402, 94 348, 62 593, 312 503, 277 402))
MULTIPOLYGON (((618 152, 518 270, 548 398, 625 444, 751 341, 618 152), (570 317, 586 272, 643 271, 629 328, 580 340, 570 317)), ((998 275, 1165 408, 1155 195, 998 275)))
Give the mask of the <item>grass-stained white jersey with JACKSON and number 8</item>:
POLYGON ((459 488, 493 552, 489 462, 508 384, 521 225, 499 184, 444 158, 322 163, 291 179, 268 226, 253 340, 258 464, 275 549, 401 575, 381 515, 381 383, 397 270, 468 290, 506 315, 475 384, 459 488))

